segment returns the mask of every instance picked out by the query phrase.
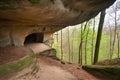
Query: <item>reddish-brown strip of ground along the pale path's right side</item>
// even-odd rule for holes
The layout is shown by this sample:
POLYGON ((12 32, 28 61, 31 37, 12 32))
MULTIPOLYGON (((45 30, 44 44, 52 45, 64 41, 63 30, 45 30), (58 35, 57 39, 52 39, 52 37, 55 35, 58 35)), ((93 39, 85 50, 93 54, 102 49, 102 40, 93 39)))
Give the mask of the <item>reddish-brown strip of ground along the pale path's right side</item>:
MULTIPOLYGON (((39 56, 41 60, 44 61, 44 63, 47 63, 51 66, 58 66, 61 67, 62 69, 70 72, 72 75, 78 78, 78 80, 111 80, 108 79, 107 77, 103 76, 102 74, 99 74, 101 77, 95 77, 92 74, 88 73, 87 71, 82 69, 82 66, 79 66, 78 64, 61 64, 60 61, 52 59, 50 57, 46 56, 39 56)), ((94 73, 98 74, 98 73, 94 73)))

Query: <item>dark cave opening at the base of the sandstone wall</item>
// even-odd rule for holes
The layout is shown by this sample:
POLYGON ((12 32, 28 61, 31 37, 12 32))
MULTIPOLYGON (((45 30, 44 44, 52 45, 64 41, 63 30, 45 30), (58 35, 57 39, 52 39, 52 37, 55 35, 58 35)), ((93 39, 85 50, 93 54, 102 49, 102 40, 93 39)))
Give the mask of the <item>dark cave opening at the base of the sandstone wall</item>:
POLYGON ((24 44, 43 43, 44 33, 32 33, 25 38, 24 44))

